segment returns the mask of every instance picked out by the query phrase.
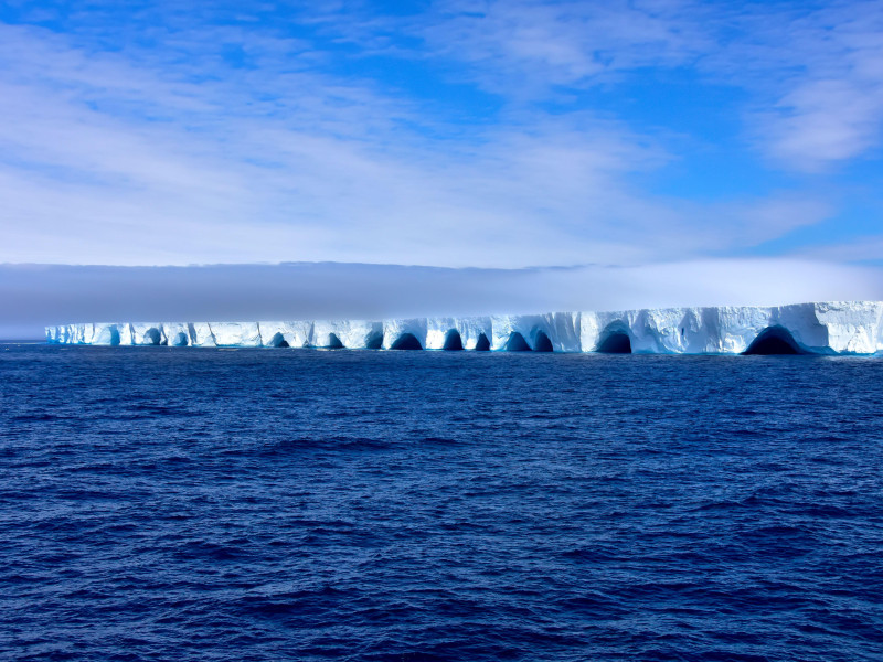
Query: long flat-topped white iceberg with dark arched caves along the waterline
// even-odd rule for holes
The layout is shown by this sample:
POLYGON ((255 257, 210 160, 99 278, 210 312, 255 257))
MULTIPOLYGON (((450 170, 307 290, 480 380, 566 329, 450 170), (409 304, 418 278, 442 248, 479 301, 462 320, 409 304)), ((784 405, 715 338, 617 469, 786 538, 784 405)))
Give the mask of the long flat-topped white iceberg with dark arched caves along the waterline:
POLYGON ((883 302, 377 321, 78 323, 47 327, 46 341, 202 348, 871 355, 883 353, 883 302))

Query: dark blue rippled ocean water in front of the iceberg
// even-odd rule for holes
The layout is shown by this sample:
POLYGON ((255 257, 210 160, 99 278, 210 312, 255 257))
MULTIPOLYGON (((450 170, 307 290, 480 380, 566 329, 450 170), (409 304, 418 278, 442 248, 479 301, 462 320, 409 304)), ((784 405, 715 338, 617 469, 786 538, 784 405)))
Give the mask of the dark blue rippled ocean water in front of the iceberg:
POLYGON ((0 656, 883 659, 883 361, 0 345, 0 656))

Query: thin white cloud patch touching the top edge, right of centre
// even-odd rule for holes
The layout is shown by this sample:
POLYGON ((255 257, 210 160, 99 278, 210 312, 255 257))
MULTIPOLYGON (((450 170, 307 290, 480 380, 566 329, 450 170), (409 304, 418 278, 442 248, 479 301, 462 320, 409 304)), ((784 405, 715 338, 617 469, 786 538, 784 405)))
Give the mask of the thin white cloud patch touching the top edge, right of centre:
POLYGON ((474 62, 489 89, 547 94, 624 70, 682 64, 708 46, 693 2, 439 3, 423 34, 437 52, 474 62))

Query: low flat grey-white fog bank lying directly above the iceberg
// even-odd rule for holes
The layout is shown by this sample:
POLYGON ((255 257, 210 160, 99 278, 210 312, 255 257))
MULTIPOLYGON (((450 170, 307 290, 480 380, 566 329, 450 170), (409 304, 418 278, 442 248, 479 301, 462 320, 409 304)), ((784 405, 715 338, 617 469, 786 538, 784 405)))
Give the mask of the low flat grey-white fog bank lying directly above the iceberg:
POLYGON ((47 324, 620 310, 883 299, 883 271, 801 260, 449 269, 359 264, 0 265, 0 338, 47 324))

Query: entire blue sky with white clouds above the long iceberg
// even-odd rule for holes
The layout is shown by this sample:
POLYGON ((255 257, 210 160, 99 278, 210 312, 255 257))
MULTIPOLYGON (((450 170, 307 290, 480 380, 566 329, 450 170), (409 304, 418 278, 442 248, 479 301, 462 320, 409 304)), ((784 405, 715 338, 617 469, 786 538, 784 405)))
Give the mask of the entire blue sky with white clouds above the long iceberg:
MULTIPOLYGON (((514 301, 405 306, 363 265, 532 278, 535 310, 883 298, 882 183, 880 1, 0 4, 0 335, 86 321, 40 292, 96 266, 336 263, 394 314, 514 301)), ((301 285, 205 312, 306 314, 301 285)))

